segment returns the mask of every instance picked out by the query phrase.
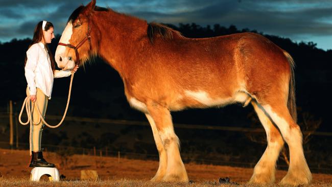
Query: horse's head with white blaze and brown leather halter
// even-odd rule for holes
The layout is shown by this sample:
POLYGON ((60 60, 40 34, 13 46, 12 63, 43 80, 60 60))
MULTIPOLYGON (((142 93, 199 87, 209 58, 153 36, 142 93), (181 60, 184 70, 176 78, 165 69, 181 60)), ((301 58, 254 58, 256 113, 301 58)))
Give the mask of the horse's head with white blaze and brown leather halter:
POLYGON ((93 38, 90 40, 90 20, 95 6, 96 0, 92 0, 85 7, 83 5, 78 7, 69 16, 55 52, 58 67, 64 70, 73 69, 75 63, 84 63, 92 54, 91 40, 93 38))

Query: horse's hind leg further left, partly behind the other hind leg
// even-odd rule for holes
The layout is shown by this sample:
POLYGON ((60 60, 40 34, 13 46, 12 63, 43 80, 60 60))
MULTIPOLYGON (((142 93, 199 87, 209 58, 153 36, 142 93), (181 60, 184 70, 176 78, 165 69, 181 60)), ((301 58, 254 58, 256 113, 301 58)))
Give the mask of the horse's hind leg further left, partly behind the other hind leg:
POLYGON ((266 131, 268 146, 263 156, 257 162, 254 168, 254 173, 249 182, 273 183, 275 181, 275 165, 283 146, 283 139, 279 130, 272 124, 261 106, 255 101, 252 101, 251 104, 258 115, 260 123, 262 123, 266 131))

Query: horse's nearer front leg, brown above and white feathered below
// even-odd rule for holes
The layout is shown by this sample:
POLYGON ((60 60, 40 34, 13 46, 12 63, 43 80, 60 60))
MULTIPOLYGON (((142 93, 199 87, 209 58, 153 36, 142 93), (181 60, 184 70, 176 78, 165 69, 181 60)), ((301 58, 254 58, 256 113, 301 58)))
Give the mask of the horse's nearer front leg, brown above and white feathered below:
POLYGON ((162 180, 187 182, 188 176, 180 156, 179 139, 174 132, 170 111, 156 103, 147 104, 147 108, 167 152, 167 169, 162 180))

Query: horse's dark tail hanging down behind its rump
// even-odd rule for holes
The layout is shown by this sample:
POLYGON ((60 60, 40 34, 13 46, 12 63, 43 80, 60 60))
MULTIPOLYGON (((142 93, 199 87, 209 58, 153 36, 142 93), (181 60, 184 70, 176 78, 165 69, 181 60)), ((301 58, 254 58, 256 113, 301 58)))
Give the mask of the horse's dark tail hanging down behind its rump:
POLYGON ((294 75, 294 67, 295 62, 292 58, 292 56, 287 53, 286 51, 283 51, 284 56, 286 56, 290 66, 291 66, 291 79, 289 83, 289 91, 288 91, 288 103, 287 107, 292 115, 293 120, 295 123, 297 123, 297 112, 296 112, 296 103, 295 103, 295 75, 294 75))

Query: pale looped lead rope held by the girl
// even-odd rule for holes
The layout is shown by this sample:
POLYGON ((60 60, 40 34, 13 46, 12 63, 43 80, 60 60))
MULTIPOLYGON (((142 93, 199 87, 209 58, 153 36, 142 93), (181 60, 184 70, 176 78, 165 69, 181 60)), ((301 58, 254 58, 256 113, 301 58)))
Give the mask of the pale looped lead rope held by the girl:
MULTIPOLYGON (((32 124, 37 125, 37 124, 40 123, 40 120, 41 120, 46 126, 48 126, 50 128, 57 128, 57 127, 59 127, 62 124, 62 122, 63 122, 63 120, 64 120, 64 118, 65 118, 65 116, 67 114, 67 110, 68 110, 68 106, 69 106, 69 101, 70 101, 70 94, 72 93, 72 84, 73 84, 74 74, 75 73, 72 72, 72 77, 70 77, 70 84, 69 84, 69 92, 68 92, 67 105, 66 105, 66 109, 64 110, 64 114, 62 116, 62 120, 60 121, 60 123, 58 125, 54 125, 53 126, 53 125, 49 125, 48 123, 45 122, 45 119, 43 118, 43 115, 41 114, 41 112, 39 110, 37 100, 35 101, 35 104, 37 105, 37 111, 38 111, 38 114, 39 114, 40 118, 39 118, 39 122, 38 123, 34 123, 33 122, 33 118, 32 118, 32 113, 31 113, 30 98, 29 98, 29 96, 27 96, 26 99, 23 101, 21 111, 19 112, 19 115, 18 115, 18 121, 19 121, 19 123, 22 124, 22 125, 28 125, 29 122, 30 122, 30 125, 32 125, 32 124), (24 107, 26 107, 26 111, 27 111, 27 115, 28 115, 28 121, 27 122, 22 122, 22 120, 21 120, 21 116, 22 116, 24 107)), ((34 103, 32 104, 32 107, 34 107, 34 103)))

